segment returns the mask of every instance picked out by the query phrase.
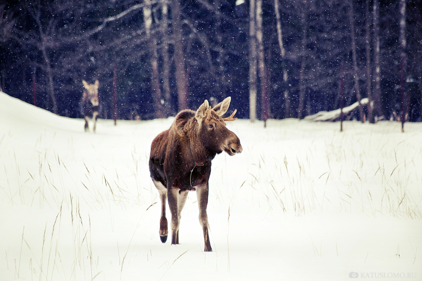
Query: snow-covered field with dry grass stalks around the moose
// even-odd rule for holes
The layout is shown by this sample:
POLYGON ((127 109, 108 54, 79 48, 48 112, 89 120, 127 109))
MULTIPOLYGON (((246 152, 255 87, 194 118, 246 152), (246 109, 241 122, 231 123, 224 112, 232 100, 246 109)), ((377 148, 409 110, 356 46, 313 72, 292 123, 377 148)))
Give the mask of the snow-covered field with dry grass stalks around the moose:
POLYGON ((421 123, 228 122, 243 153, 213 161, 204 253, 195 194, 180 245, 158 235, 172 120, 85 133, 0 93, 0 280, 422 280, 421 123))

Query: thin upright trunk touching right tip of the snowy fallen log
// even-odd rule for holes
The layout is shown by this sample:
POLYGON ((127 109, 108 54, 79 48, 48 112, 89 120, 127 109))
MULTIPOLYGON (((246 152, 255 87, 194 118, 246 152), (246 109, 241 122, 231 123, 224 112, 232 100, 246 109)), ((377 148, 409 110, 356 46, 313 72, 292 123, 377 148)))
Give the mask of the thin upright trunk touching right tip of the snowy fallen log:
POLYGON ((365 48, 366 48, 366 89, 368 95, 368 105, 366 106, 368 109, 368 119, 369 123, 375 123, 374 111, 373 111, 373 100, 372 100, 372 71, 371 71, 371 50, 369 44, 369 22, 370 22, 370 15, 369 15, 369 0, 365 0, 365 48))

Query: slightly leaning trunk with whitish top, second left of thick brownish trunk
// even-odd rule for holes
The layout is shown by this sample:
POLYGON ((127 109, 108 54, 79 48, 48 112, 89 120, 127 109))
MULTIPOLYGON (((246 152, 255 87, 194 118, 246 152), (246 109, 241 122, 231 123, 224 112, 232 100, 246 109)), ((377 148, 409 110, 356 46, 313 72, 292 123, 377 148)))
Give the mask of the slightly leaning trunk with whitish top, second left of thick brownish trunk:
POLYGON ((151 36, 151 12, 151 0, 145 0, 145 6, 143 7, 143 21, 145 24, 146 40, 148 42, 149 55, 151 60, 152 100, 156 117, 164 118, 163 105, 161 104, 161 89, 158 76, 157 42, 156 39, 151 36))

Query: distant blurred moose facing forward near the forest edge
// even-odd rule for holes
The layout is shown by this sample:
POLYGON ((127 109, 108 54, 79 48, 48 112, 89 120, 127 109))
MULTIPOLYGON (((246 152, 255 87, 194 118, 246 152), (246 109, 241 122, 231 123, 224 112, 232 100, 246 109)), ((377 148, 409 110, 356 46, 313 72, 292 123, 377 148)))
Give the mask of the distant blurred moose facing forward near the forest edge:
POLYGON ((95 80, 94 84, 88 84, 85 80, 82 80, 82 84, 84 89, 82 100, 80 101, 80 112, 85 119, 85 132, 89 131, 88 119, 92 118, 94 121, 93 131, 95 133, 100 108, 98 100, 98 86, 100 83, 98 80, 95 80))

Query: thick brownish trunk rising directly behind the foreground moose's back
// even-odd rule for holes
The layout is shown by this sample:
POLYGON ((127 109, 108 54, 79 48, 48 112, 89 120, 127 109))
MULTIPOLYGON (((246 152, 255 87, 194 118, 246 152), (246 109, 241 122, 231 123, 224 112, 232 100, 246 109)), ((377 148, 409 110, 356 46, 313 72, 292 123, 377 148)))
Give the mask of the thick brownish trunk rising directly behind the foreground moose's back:
POLYGON ((179 0, 173 0, 173 40, 174 40, 174 62, 176 64, 176 87, 179 102, 179 111, 188 108, 187 77, 185 69, 185 58, 183 56, 181 7, 179 0))

